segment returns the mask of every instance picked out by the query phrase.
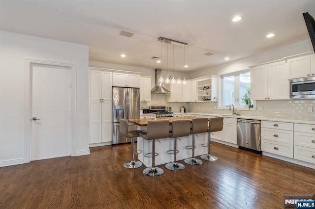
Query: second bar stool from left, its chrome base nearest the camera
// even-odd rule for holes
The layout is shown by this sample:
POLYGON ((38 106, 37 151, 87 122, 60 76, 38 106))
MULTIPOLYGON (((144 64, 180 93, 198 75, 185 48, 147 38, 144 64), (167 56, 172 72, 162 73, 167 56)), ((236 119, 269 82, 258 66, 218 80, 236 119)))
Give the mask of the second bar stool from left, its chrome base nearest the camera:
POLYGON ((143 174, 150 177, 158 177, 164 173, 163 169, 155 167, 156 139, 167 138, 169 135, 169 120, 148 121, 147 132, 139 134, 146 140, 152 140, 152 166, 143 170, 143 174))

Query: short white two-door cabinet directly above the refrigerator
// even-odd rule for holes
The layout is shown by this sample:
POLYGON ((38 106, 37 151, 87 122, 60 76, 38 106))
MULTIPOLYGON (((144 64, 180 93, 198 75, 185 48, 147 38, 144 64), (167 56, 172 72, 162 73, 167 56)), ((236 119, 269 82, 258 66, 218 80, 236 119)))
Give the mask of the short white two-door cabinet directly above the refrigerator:
POLYGON ((140 75, 113 73, 113 86, 140 88, 140 75))

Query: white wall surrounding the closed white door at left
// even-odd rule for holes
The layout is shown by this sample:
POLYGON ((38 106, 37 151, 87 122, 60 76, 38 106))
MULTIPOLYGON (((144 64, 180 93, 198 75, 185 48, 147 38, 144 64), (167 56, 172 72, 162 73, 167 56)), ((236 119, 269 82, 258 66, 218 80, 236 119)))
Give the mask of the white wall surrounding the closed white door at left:
POLYGON ((77 71, 77 143, 89 154, 88 46, 0 30, 0 166, 23 162, 26 140, 25 59, 69 63, 77 71))

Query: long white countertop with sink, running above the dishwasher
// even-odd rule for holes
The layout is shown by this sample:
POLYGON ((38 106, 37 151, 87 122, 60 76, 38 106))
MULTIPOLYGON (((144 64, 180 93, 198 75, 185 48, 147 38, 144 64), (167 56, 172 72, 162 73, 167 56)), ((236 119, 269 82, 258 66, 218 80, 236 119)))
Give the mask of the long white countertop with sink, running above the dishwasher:
POLYGON ((201 112, 174 112, 174 114, 192 114, 192 115, 205 115, 205 116, 223 116, 229 118, 243 118, 243 119, 253 119, 253 120, 264 120, 264 121, 277 121, 277 122, 286 122, 286 123, 303 123, 303 124, 314 124, 315 121, 308 120, 296 120, 290 118, 272 118, 265 116, 250 116, 250 115, 235 115, 232 114, 209 114, 209 113, 201 113, 201 112))

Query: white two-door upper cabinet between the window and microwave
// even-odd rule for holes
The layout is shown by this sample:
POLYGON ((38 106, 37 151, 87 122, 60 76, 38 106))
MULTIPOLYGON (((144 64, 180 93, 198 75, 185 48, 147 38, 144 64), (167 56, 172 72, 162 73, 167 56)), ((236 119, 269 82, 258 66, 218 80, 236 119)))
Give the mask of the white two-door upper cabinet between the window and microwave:
POLYGON ((251 68, 252 100, 288 99, 288 79, 285 61, 251 68))

